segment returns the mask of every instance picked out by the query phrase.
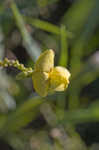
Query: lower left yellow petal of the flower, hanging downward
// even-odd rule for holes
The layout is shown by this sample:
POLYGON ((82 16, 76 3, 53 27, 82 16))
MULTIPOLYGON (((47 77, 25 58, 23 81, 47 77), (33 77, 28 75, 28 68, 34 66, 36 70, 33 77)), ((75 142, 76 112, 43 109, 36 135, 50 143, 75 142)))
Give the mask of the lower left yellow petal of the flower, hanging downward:
POLYGON ((46 72, 38 72, 38 71, 33 72, 32 80, 34 89, 42 97, 45 97, 48 94, 48 87, 49 87, 48 77, 49 75, 46 72))

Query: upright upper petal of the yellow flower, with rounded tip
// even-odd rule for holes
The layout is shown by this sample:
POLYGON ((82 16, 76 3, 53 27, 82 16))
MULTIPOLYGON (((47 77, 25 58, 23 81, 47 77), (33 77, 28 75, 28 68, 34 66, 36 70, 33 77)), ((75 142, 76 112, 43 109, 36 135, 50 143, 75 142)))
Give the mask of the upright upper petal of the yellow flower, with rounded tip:
POLYGON ((54 67, 54 51, 47 50, 38 58, 34 69, 36 71, 49 72, 54 67))

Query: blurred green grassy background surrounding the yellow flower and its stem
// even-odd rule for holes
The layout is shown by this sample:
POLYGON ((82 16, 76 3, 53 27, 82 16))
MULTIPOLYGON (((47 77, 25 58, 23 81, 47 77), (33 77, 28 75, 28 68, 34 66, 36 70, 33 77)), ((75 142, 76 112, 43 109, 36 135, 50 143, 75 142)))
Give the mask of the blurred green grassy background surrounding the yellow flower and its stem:
POLYGON ((0 0, 0 60, 33 68, 47 49, 70 85, 41 98, 0 68, 0 149, 99 150, 99 0, 0 0))

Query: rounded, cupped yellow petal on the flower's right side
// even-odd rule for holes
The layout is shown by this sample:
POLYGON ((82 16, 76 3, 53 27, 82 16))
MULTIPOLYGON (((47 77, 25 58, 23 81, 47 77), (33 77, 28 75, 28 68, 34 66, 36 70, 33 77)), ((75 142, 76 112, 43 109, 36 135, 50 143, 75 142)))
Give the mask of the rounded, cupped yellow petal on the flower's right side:
POLYGON ((49 92, 64 91, 69 84, 70 72, 64 67, 55 67, 50 72, 49 92))

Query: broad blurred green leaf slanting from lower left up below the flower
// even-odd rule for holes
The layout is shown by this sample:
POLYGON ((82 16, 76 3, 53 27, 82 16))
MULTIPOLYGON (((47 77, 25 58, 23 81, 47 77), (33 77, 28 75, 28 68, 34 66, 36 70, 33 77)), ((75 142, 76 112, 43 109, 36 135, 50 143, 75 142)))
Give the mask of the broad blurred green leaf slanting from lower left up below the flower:
POLYGON ((39 106, 45 101, 39 96, 25 101, 15 112, 8 115, 6 132, 18 131, 35 119, 39 113, 39 106))

